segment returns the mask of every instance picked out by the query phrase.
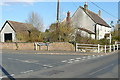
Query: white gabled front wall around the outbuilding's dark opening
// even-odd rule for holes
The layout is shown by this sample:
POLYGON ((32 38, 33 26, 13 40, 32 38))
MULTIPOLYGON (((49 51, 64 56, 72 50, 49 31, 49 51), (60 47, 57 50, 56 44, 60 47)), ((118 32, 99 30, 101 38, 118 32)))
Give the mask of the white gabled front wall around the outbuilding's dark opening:
POLYGON ((4 28, 2 29, 2 31, 0 32, 0 36, 1 36, 1 42, 4 42, 4 34, 5 33, 12 33, 12 41, 15 42, 15 31, 10 27, 10 25, 8 23, 5 24, 4 28))

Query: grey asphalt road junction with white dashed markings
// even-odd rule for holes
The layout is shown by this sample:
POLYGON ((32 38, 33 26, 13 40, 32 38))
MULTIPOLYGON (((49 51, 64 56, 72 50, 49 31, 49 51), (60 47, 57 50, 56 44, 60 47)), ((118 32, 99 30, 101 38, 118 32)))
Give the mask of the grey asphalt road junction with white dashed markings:
MULTIPOLYGON (((118 52, 111 55, 48 55, 2 52, 2 66, 17 78, 118 78, 118 52)), ((3 74, 3 77, 6 75, 3 74)))

